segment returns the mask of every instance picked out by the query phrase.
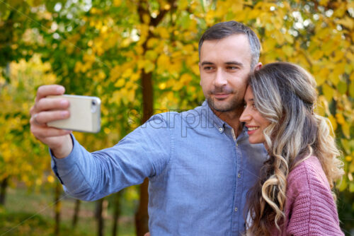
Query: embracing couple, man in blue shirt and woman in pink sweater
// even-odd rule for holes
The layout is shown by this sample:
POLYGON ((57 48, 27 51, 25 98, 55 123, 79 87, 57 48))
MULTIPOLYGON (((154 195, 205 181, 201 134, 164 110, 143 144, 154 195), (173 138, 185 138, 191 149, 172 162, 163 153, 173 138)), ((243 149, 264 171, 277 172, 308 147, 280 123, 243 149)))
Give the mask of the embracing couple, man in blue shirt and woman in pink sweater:
POLYGON ((111 148, 89 153, 70 131, 46 125, 69 117, 66 100, 46 98, 63 94, 59 85, 38 88, 31 131, 76 198, 149 177, 152 235, 343 235, 331 193, 343 170, 314 114, 314 79, 293 64, 262 67, 259 52, 245 25, 212 26, 199 42, 206 101, 154 115, 111 148))

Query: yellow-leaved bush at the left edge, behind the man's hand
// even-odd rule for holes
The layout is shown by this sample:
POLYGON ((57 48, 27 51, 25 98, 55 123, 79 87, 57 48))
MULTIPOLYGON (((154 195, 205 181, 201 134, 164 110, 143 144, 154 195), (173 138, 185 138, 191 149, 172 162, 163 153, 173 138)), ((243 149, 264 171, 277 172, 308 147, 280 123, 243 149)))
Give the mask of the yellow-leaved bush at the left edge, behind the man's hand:
POLYGON ((47 148, 28 130, 29 110, 38 85, 55 83, 56 76, 47 62, 42 64, 38 54, 25 61, 8 64, 10 83, 0 76, 0 180, 12 177, 27 186, 53 182, 47 148))

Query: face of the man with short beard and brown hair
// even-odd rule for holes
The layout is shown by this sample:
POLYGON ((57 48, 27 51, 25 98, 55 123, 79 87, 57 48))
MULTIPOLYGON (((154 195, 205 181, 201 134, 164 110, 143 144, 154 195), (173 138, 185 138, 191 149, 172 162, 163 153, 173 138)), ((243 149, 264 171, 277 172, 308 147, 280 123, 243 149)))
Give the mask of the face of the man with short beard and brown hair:
POLYGON ((251 71, 251 49, 246 35, 203 42, 199 69, 200 85, 212 110, 242 109, 251 71))

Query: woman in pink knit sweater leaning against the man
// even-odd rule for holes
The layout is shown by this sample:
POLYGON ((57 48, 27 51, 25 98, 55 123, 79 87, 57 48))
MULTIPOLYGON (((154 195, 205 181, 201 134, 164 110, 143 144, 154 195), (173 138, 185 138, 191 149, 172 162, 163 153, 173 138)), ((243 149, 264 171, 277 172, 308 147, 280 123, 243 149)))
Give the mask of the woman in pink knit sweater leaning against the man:
POLYGON ((248 194, 246 235, 343 235, 331 192, 343 163, 329 124, 314 113, 315 88, 295 64, 268 64, 250 77, 240 120, 269 158, 248 194))

